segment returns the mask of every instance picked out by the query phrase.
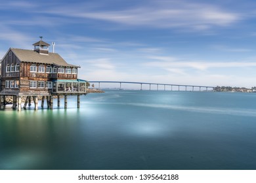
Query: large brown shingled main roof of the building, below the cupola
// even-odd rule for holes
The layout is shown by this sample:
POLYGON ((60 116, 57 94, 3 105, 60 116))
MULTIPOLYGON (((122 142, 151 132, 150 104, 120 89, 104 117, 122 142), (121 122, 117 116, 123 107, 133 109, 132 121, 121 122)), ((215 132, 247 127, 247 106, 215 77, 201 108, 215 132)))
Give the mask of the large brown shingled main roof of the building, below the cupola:
POLYGON ((66 61, 56 53, 42 55, 33 50, 23 50, 18 48, 11 48, 11 50, 16 55, 16 57, 20 59, 20 61, 31 63, 46 63, 65 67, 78 67, 76 65, 66 63, 66 61))

